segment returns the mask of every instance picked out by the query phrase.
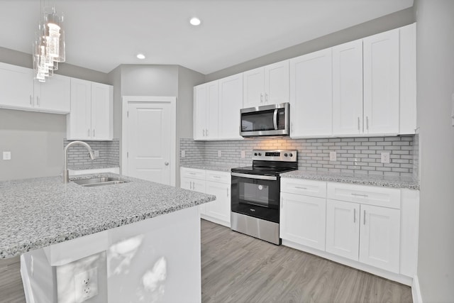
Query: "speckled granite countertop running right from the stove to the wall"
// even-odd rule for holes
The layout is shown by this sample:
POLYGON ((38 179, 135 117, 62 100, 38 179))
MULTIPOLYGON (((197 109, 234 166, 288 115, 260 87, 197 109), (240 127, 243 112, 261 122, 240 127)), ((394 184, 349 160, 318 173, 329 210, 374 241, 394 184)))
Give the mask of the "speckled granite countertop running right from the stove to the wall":
POLYGON ((353 175, 345 173, 333 172, 313 172, 308 170, 294 170, 293 172, 285 172, 281 177, 343 182, 360 185, 371 185, 381 187, 397 187, 408 189, 419 189, 419 182, 416 182, 410 177, 384 177, 376 175, 353 175))

